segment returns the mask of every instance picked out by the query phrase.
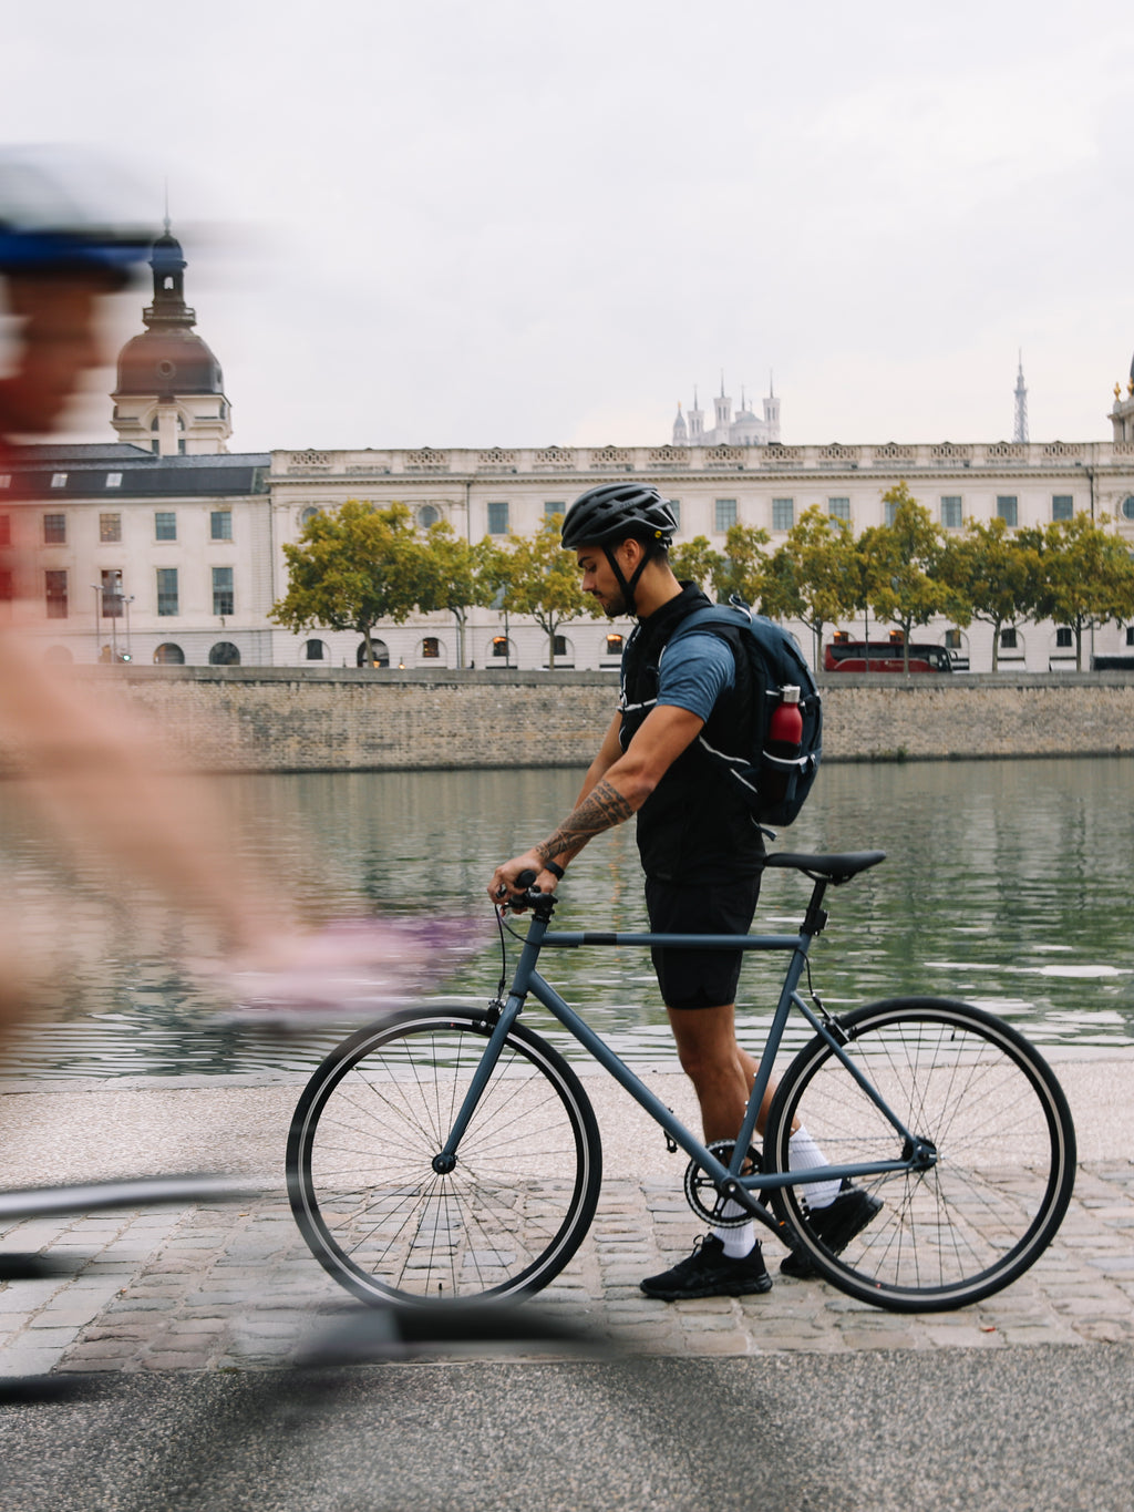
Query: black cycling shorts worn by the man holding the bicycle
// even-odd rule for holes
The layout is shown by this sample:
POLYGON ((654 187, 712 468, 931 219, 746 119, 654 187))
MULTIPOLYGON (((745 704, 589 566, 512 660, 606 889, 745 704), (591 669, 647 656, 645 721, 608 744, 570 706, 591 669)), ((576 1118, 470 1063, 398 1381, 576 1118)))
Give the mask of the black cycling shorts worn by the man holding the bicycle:
MULTIPOLYGON (((646 909, 658 934, 747 934, 761 895, 761 875, 711 886, 679 888, 646 878, 646 909)), ((650 951, 667 1009, 720 1009, 736 1001, 744 951, 650 951)))

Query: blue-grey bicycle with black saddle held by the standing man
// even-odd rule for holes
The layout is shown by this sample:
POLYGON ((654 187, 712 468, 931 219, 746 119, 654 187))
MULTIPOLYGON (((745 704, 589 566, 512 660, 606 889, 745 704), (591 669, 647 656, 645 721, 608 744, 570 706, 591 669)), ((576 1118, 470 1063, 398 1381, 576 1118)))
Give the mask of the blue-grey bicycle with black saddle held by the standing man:
POLYGON ((287 1187, 319 1263, 370 1303, 525 1296, 567 1266, 594 1217, 602 1148, 578 1075, 519 1022, 534 996, 689 1157, 685 1196, 706 1223, 754 1217, 841 1291, 891 1311, 947 1311, 1007 1287, 1043 1253, 1070 1201, 1070 1111, 1034 1046, 971 1004, 895 998, 827 1012, 809 963, 827 888, 881 860, 885 851, 768 854, 767 866, 812 881, 795 934, 555 931, 555 898, 523 877, 532 919, 507 996, 502 977, 487 1010, 422 1005, 367 1025, 308 1081, 287 1187), (537 971, 544 950, 652 945, 788 956, 735 1142, 703 1145, 537 971), (779 1081, 758 1151, 756 1117, 792 1012, 813 1037, 779 1081), (815 1170, 791 1170, 801 1110, 830 1161, 823 1179, 856 1182, 883 1204, 841 1253, 798 1190, 815 1170), (723 1219, 729 1201, 739 1217, 723 1219))

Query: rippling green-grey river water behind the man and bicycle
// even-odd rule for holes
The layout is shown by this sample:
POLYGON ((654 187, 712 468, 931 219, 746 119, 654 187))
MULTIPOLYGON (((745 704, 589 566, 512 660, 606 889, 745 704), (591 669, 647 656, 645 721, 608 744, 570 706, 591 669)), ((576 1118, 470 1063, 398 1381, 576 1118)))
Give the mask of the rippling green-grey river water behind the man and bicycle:
MULTIPOLYGON (((1132 777, 1129 758, 824 768, 780 848, 888 851, 829 892, 830 925, 812 954, 824 1001, 940 993, 992 1009, 1040 1045, 1131 1045, 1132 777)), ((500 971, 484 883, 570 809, 581 774, 216 780, 231 800, 234 848, 268 857, 313 912, 482 921, 482 947, 437 990, 484 1002, 500 971)), ((156 924, 106 868, 60 869, 23 816, 18 785, 0 789, 0 824, 6 897, 50 919, 60 983, 51 1022, 18 1039, 8 1075, 284 1074, 308 1069, 339 1037, 218 1027, 221 1004, 177 963, 192 948, 177 921, 156 924)), ((596 841, 561 897, 562 928, 646 927, 632 827, 596 841)), ((756 928, 792 927, 806 897, 795 874, 770 872, 756 928)), ((673 1067, 647 953, 556 951, 544 968, 626 1060, 673 1067)), ((738 1018, 751 1039, 776 977, 776 957, 748 957, 738 1018)), ((541 1009, 529 1021, 572 1054, 541 1009)))

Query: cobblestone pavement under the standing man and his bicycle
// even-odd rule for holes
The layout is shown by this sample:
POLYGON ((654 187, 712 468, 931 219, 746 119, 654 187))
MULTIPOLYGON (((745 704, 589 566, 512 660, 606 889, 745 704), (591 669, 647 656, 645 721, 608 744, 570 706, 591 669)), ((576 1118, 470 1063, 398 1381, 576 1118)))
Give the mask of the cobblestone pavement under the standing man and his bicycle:
MULTIPOLYGON (((612 1179, 584 1247, 541 1299, 602 1337, 683 1356, 1134 1341, 1132 1199, 1134 1161, 1086 1163, 1055 1243, 1028 1275, 978 1306, 906 1315, 780 1278, 776 1241, 767 1296, 650 1300, 641 1276, 688 1253, 700 1229, 677 1181, 612 1179)), ((321 1318, 351 1305, 283 1194, 26 1220, 0 1234, 0 1249, 50 1249, 76 1266, 0 1285, 5 1374, 280 1365, 321 1318)))

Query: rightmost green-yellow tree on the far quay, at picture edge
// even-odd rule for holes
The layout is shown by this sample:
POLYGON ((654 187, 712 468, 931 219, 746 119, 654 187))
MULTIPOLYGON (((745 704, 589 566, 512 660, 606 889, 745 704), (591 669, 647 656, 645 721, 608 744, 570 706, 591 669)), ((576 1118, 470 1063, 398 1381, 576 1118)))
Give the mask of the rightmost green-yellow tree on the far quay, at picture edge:
POLYGON ((1021 531, 1039 555, 1036 618, 1066 624, 1083 671, 1083 635, 1093 626, 1134 618, 1134 561, 1129 546, 1089 514, 1021 531))

